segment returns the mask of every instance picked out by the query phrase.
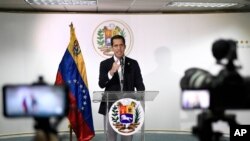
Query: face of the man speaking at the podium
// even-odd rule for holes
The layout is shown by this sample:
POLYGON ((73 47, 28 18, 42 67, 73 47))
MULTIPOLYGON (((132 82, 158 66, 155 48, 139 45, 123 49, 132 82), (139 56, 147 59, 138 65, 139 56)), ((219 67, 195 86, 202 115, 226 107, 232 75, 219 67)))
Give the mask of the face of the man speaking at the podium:
POLYGON ((124 56, 126 46, 122 42, 122 39, 114 39, 112 48, 113 48, 113 51, 114 51, 114 55, 118 59, 120 59, 122 56, 124 56))

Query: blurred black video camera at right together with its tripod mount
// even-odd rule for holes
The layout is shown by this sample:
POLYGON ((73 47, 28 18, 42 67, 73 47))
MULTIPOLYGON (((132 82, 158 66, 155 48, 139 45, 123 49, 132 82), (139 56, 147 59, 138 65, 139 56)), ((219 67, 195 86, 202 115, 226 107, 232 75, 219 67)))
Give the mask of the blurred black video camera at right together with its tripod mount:
POLYGON ((217 40, 212 45, 212 53, 217 64, 223 68, 217 76, 200 68, 190 68, 180 81, 183 109, 204 109, 197 116, 197 126, 192 133, 200 141, 223 140, 223 133, 214 132, 212 123, 225 121, 230 128, 239 124, 234 114, 225 110, 250 109, 250 77, 238 73, 240 66, 237 60, 237 42, 217 40))

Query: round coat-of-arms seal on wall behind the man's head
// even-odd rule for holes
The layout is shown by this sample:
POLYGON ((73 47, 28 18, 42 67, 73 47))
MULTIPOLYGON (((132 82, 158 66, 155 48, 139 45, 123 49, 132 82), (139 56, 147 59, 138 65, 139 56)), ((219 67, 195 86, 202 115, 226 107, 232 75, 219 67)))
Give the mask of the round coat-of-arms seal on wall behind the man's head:
POLYGON ((128 55, 132 49, 134 37, 130 27, 120 20, 107 20, 96 27, 92 37, 93 47, 102 57, 109 58, 114 54, 111 47, 111 38, 114 35, 125 38, 125 55, 128 55))

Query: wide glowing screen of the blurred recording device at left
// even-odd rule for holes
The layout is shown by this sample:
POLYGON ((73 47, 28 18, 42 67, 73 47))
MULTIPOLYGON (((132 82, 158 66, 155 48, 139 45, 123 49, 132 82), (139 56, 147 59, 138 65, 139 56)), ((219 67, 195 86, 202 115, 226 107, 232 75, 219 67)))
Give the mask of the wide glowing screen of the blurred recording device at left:
POLYGON ((67 91, 62 86, 6 85, 3 104, 5 117, 64 116, 67 91))

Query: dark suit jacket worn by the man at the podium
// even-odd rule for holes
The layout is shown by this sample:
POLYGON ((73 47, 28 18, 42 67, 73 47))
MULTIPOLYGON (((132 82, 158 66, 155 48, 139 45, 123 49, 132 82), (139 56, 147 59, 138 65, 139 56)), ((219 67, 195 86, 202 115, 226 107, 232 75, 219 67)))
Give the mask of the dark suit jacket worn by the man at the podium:
MULTIPOLYGON (((99 86, 105 88, 105 91, 121 90, 118 72, 114 74, 112 79, 108 78, 108 72, 112 68, 114 61, 114 57, 111 57, 100 63, 99 86)), ((135 89, 137 91, 145 90, 141 70, 136 60, 125 57, 123 91, 135 91, 135 89)), ((109 108, 110 107, 111 103, 109 104, 109 108)), ((101 102, 99 113, 103 115, 106 114, 105 102, 101 102)))

